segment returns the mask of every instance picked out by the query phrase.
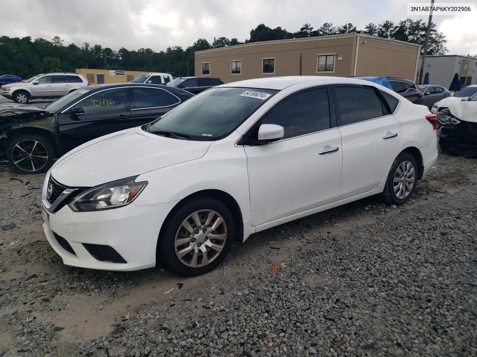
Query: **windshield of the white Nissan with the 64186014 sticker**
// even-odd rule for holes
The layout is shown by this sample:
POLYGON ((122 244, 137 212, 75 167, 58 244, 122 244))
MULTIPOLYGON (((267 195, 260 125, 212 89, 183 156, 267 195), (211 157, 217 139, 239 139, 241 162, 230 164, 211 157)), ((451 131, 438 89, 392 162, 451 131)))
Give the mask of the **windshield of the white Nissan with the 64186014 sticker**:
POLYGON ((209 89, 151 124, 147 131, 172 131, 192 140, 218 140, 243 123, 278 90, 251 88, 209 89))

